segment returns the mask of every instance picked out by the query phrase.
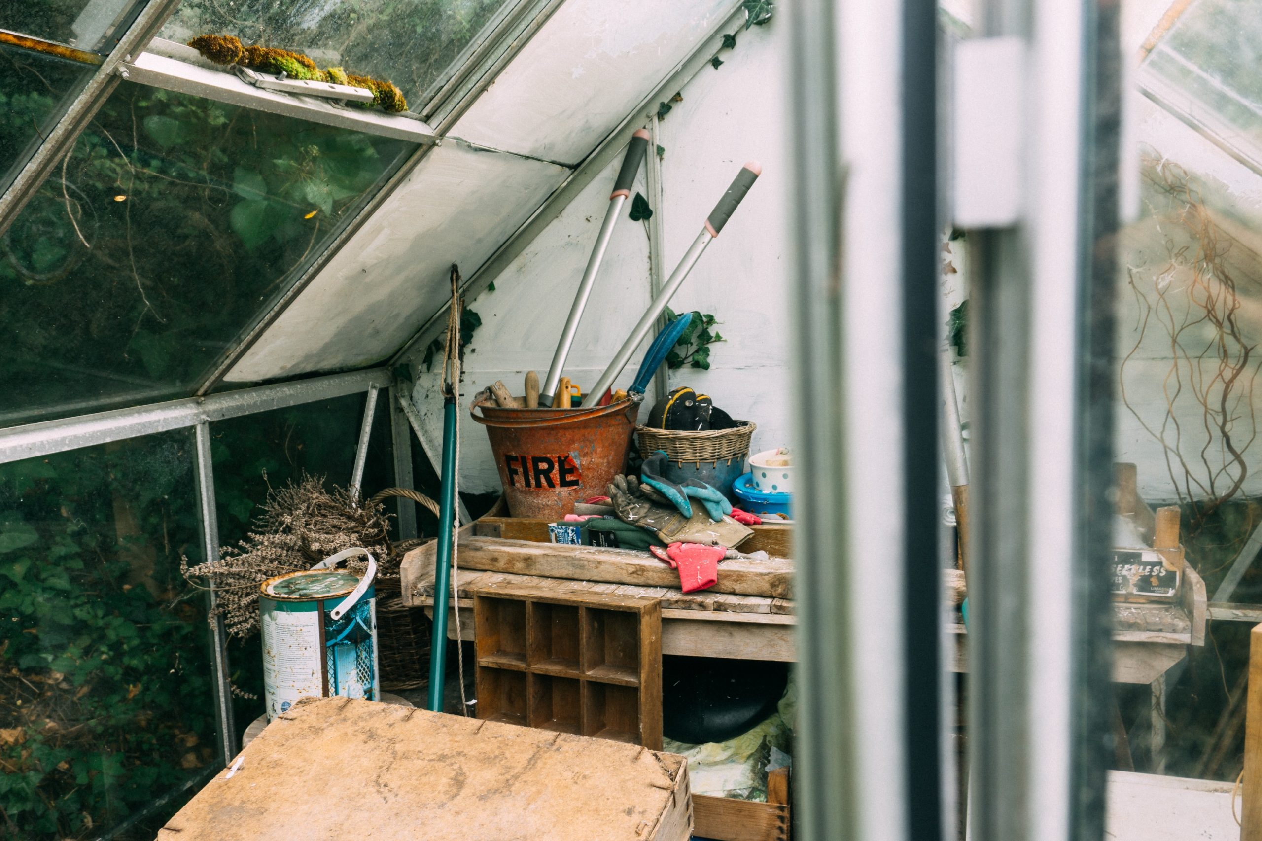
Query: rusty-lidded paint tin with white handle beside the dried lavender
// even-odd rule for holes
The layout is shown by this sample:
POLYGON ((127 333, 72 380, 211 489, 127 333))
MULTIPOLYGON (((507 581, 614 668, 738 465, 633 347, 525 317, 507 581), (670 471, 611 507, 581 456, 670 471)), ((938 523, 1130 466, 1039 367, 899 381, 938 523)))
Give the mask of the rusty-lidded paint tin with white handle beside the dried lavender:
POLYGON ((361 548, 326 558, 305 572, 288 572, 260 586, 262 687, 268 721, 307 696, 380 700, 377 564, 361 548), (367 556, 361 577, 337 564, 367 556))

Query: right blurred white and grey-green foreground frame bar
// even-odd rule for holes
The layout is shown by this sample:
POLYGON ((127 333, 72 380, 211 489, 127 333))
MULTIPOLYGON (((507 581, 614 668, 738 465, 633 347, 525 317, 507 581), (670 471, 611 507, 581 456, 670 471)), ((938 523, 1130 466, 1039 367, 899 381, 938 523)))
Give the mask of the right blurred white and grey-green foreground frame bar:
POLYGON ((987 0, 982 10, 983 34, 1023 39, 1029 61, 1022 210, 1011 227, 968 232, 972 841, 1104 832, 1114 376, 1104 246, 1117 229, 1122 77, 1117 6, 1106 6, 987 0))

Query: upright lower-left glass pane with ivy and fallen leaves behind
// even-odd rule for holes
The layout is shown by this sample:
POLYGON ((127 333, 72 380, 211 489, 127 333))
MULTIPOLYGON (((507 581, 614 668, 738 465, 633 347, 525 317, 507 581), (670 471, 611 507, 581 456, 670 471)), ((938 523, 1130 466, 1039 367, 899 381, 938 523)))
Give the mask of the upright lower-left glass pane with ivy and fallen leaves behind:
POLYGON ((0 465, 0 837, 153 837, 222 766, 206 593, 180 575, 193 452, 179 431, 0 465))

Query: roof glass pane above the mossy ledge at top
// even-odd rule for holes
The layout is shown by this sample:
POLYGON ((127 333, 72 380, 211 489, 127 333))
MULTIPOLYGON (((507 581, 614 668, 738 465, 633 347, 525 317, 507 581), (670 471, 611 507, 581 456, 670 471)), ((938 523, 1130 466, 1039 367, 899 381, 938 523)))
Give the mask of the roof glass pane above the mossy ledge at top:
POLYGON ((321 67, 386 78, 413 110, 422 95, 502 6, 515 0, 184 0, 159 38, 236 35, 295 49, 321 67))

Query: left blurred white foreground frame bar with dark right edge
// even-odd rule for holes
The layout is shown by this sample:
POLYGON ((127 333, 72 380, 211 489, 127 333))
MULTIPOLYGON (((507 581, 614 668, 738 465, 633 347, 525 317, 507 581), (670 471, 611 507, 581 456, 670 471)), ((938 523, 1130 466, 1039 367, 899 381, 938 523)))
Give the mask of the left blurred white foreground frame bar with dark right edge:
POLYGON ((795 391, 815 395, 795 412, 798 816, 808 841, 941 838, 939 506, 924 494, 938 487, 938 331, 923 323, 936 178, 917 168, 935 152, 934 8, 800 0, 786 14, 795 391))

